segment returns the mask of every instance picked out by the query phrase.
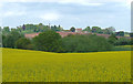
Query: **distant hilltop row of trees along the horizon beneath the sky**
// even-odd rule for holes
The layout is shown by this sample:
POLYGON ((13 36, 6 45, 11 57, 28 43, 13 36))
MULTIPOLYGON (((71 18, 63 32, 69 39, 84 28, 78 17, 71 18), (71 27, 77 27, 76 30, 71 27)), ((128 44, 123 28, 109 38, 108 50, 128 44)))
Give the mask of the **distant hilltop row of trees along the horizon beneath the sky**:
MULTIPOLYGON (((42 23, 39 23, 39 24, 23 24, 23 25, 20 25, 20 27, 17 27, 17 28, 9 28, 9 27, 3 27, 2 29, 2 33, 6 34, 6 33, 9 33, 9 31, 18 31, 20 33, 38 33, 38 32, 44 32, 44 31, 49 31, 49 30, 52 30, 52 31, 68 31, 68 30, 64 30, 60 24, 59 25, 44 25, 42 23)), ((75 28, 72 27, 70 28, 70 31, 71 32, 75 32, 75 28)), ((119 32, 115 32, 115 28, 113 27, 109 27, 109 28, 105 28, 105 29, 102 29, 100 27, 86 27, 83 29, 83 32, 89 32, 89 33, 100 33, 100 34, 115 34, 117 36, 124 36, 125 34, 129 34, 131 36, 133 36, 133 33, 130 33, 130 32, 124 32, 124 31, 119 31, 119 32)))

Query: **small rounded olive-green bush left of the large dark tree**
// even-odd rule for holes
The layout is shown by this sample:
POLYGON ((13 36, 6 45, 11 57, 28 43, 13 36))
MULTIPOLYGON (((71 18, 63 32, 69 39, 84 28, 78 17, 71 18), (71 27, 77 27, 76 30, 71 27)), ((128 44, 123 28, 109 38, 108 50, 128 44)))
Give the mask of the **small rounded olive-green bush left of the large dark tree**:
POLYGON ((25 38, 21 38, 16 42, 17 49, 32 49, 31 41, 25 38))

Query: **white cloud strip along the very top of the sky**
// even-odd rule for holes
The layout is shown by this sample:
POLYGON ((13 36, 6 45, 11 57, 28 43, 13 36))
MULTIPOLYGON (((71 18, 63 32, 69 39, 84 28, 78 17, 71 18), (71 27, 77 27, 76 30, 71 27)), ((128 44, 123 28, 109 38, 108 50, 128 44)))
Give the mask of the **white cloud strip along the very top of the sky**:
POLYGON ((58 3, 76 3, 82 6, 102 6, 109 2, 119 2, 130 8, 133 0, 1 0, 1 2, 58 2, 58 3))

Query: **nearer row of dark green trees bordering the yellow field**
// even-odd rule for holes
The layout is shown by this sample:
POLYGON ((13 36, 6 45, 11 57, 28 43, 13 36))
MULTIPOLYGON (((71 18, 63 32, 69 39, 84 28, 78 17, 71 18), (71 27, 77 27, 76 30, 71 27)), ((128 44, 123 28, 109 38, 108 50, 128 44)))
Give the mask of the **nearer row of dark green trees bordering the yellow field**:
POLYGON ((98 36, 96 34, 75 34, 61 38, 53 30, 48 30, 33 39, 25 39, 23 33, 9 31, 2 34, 2 46, 12 49, 37 50, 45 52, 99 52, 111 51, 115 45, 132 45, 133 40, 111 34, 109 39, 98 36))

